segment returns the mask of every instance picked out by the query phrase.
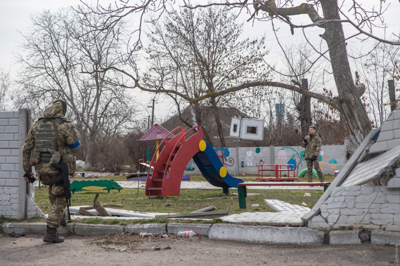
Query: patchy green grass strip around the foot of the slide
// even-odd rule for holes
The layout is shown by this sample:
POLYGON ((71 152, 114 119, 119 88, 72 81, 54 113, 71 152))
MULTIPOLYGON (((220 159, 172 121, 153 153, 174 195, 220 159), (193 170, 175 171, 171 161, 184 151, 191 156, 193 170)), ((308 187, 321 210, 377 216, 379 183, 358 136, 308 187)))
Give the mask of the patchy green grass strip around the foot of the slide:
MULTIPOLYGON (((247 190, 247 207, 251 204, 259 204, 258 208, 239 209, 236 190, 231 190, 229 195, 222 194, 221 190, 181 190, 179 196, 167 196, 164 200, 162 196, 151 197, 148 199, 144 195, 144 190, 139 189, 136 195, 135 189, 123 189, 117 191, 82 191, 76 192, 71 196, 72 206, 93 205, 93 198, 99 193, 98 202, 101 204, 113 203, 122 204, 123 210, 149 212, 149 213, 190 213, 214 205, 218 211, 228 210, 230 214, 242 212, 273 212, 263 202, 264 199, 276 199, 291 204, 301 205, 302 202, 307 207, 312 208, 322 195, 322 191, 287 191, 287 190, 247 190), (311 193, 311 197, 304 197, 304 192, 311 193)), ((35 202, 43 211, 48 213, 50 202, 47 198, 47 190, 42 187, 35 190, 35 202)))

